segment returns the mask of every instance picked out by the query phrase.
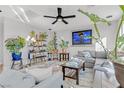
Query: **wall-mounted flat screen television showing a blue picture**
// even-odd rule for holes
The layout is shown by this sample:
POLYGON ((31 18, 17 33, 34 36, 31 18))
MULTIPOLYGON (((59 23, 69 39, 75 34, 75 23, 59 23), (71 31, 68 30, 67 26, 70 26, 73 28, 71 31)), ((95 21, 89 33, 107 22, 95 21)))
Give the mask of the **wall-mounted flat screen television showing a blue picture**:
POLYGON ((72 32, 72 45, 92 44, 92 29, 72 32))

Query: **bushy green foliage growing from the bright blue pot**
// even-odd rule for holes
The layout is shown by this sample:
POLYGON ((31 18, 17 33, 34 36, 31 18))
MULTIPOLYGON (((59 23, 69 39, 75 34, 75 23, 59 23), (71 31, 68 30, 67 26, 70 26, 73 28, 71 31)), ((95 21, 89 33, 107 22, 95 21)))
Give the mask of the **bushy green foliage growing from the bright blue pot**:
POLYGON ((5 41, 5 46, 10 53, 19 53, 20 50, 25 46, 25 44, 25 39, 20 36, 18 36, 17 38, 8 38, 5 41))

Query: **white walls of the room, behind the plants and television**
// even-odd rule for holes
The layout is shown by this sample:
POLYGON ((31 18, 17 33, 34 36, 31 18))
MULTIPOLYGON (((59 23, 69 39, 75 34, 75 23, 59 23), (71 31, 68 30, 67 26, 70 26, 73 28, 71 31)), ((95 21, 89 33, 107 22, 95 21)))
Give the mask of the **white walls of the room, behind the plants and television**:
MULTIPOLYGON (((114 46, 114 40, 115 40, 115 29, 117 27, 117 21, 112 22, 111 26, 107 26, 105 24, 99 24, 98 27, 100 28, 101 31, 101 35, 102 37, 107 37, 107 48, 109 49, 113 49, 114 46)), ((58 37, 58 41, 59 39, 62 37, 65 40, 69 41, 69 48, 68 51, 70 53, 70 56, 75 55, 78 50, 95 50, 95 41, 93 41, 93 44, 91 45, 81 45, 81 46, 72 46, 71 42, 72 42, 72 31, 79 31, 79 30, 86 30, 86 29, 93 29, 92 26, 82 26, 82 27, 78 27, 72 30, 70 29, 66 29, 63 28, 61 30, 52 30, 55 31, 57 33, 57 37, 58 37)), ((11 38, 11 37, 17 37, 19 36, 23 36, 24 38, 26 38, 29 34, 30 31, 36 31, 36 32, 41 32, 41 31, 45 31, 44 29, 36 29, 34 27, 31 27, 27 24, 24 23, 20 23, 18 21, 9 19, 9 18, 5 18, 4 19, 4 41, 7 38, 11 38)), ((47 31, 48 32, 48 40, 51 40, 51 35, 52 32, 47 31)), ((95 32, 93 30, 92 32, 93 35, 95 35, 95 32)), ((23 58, 26 59, 27 58, 27 53, 28 53, 28 48, 27 46, 22 50, 23 52, 23 58)), ((11 65, 11 55, 10 53, 6 50, 6 48, 4 47, 4 64, 6 66, 10 66, 11 65)))

